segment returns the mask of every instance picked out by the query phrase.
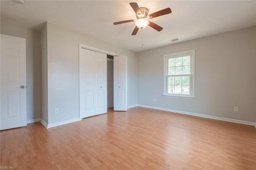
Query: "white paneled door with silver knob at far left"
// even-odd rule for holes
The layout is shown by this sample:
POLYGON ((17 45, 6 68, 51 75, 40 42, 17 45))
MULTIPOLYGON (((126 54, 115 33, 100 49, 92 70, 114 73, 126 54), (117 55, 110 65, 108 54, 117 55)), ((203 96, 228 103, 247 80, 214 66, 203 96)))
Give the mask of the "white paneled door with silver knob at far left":
POLYGON ((0 130, 27 125, 26 39, 1 34, 0 130))

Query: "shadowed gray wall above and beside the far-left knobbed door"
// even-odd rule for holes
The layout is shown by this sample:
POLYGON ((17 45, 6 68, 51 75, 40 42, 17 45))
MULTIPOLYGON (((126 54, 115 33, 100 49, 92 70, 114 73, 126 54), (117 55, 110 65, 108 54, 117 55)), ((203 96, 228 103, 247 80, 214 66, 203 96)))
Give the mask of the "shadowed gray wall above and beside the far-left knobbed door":
POLYGON ((40 32, 1 16, 1 34, 26 38, 27 120, 41 118, 40 32))

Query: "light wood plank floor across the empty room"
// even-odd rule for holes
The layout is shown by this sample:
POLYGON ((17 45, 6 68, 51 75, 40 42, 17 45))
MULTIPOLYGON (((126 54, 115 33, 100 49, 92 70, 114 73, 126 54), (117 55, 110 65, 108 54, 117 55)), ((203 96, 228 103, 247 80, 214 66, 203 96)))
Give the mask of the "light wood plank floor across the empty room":
POLYGON ((0 166, 15 169, 256 170, 255 127, 141 107, 0 137, 0 166))

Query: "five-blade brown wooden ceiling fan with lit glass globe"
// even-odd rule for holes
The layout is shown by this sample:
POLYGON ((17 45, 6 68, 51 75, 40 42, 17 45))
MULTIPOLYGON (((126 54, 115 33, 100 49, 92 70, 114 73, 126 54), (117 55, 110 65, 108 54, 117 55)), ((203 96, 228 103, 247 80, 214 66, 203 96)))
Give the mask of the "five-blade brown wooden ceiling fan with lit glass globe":
POLYGON ((140 8, 136 2, 131 2, 130 6, 136 13, 137 20, 126 20, 126 21, 114 22, 114 25, 123 24, 127 22, 135 22, 136 26, 132 32, 132 36, 136 35, 139 29, 143 29, 146 26, 150 26, 157 31, 161 31, 163 29, 162 27, 158 26, 154 22, 149 21, 148 19, 152 19, 158 16, 172 13, 172 10, 170 8, 165 8, 163 10, 160 10, 148 15, 148 9, 144 7, 140 8))

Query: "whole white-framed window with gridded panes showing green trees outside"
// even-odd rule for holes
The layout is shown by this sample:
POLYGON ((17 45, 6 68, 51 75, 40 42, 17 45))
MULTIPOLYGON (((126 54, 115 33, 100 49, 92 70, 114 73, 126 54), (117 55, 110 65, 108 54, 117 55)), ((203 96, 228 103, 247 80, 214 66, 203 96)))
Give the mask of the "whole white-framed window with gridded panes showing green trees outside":
POLYGON ((195 50, 164 55, 164 96, 194 98, 195 50))

